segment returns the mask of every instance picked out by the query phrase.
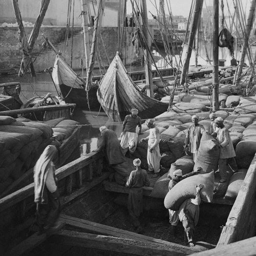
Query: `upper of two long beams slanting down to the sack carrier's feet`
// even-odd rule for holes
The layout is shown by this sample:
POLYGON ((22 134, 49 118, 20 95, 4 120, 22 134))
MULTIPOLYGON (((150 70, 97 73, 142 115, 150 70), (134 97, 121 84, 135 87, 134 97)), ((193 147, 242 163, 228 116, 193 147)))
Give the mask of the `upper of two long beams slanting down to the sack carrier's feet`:
POLYGON ((153 237, 143 236, 143 234, 126 231, 123 229, 106 226, 96 222, 82 220, 82 219, 74 218, 71 216, 63 215, 63 214, 60 215, 60 221, 65 222, 69 226, 78 227, 79 229, 82 229, 85 232, 90 232, 94 234, 102 234, 104 236, 113 236, 113 237, 124 238, 124 239, 135 239, 136 241, 141 241, 141 242, 161 244, 169 248, 181 251, 183 253, 186 253, 186 252, 193 253, 196 251, 194 248, 190 248, 189 251, 187 251, 188 247, 183 245, 171 243, 171 242, 153 238, 153 237))

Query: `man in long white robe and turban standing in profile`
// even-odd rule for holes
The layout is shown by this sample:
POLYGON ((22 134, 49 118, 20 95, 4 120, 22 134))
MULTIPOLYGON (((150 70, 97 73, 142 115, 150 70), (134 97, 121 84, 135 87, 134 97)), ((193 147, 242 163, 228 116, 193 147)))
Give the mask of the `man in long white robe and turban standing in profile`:
POLYGON ((147 164, 148 164, 148 171, 155 172, 152 176, 153 178, 159 176, 160 172, 160 161, 161 161, 161 154, 159 148, 160 142, 160 132, 158 128, 154 124, 153 119, 147 119, 146 125, 150 128, 150 135, 146 138, 141 139, 141 141, 147 141, 147 164))

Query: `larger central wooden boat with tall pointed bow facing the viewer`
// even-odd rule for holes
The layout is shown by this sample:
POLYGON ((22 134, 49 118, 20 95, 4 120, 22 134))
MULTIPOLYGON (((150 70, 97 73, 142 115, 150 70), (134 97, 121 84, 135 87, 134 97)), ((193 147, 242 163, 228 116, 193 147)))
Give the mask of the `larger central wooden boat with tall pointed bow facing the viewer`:
POLYGON ((168 104, 148 97, 136 87, 116 53, 97 91, 98 101, 108 117, 120 122, 132 108, 139 110, 141 119, 152 118, 167 110, 168 104))

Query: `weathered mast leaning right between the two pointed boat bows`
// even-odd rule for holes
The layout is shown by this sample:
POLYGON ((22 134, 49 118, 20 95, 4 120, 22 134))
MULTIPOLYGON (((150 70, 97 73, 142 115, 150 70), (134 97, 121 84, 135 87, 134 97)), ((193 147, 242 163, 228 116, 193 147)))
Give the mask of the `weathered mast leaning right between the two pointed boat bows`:
POLYGON ((88 67, 88 73, 87 73, 88 76, 87 76, 87 80, 86 80, 86 91, 87 92, 90 90, 90 87, 92 84, 92 72, 93 72, 94 61, 95 61, 97 38, 99 37, 99 28, 101 26, 101 18, 103 15, 104 6, 105 6, 105 0, 98 0, 97 12, 96 12, 95 19, 94 19, 92 48, 91 48, 89 67, 88 67))

